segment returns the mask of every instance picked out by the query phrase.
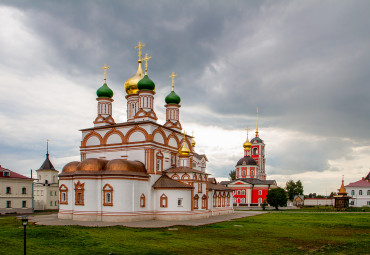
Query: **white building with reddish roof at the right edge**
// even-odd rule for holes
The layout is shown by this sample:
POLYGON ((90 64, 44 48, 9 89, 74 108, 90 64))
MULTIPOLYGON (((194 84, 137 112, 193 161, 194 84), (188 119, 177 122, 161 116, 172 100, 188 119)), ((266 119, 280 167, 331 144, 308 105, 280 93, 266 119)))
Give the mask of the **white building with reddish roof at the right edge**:
POLYGON ((350 207, 370 206, 370 172, 366 177, 345 187, 348 195, 351 196, 350 207))

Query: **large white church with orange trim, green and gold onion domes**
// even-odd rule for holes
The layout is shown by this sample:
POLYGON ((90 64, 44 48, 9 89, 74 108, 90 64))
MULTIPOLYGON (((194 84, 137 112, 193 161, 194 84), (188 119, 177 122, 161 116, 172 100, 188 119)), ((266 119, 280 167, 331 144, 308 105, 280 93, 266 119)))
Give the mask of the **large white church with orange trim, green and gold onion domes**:
POLYGON ((84 221, 185 220, 232 213, 232 190, 206 172, 207 158, 180 124, 180 97, 165 98, 166 122, 157 123, 155 84, 139 44, 138 69, 125 82, 127 122, 112 118, 113 91, 97 90, 98 114, 82 129, 81 161, 59 175, 58 217, 84 221), (145 61, 145 73, 142 61, 145 61))

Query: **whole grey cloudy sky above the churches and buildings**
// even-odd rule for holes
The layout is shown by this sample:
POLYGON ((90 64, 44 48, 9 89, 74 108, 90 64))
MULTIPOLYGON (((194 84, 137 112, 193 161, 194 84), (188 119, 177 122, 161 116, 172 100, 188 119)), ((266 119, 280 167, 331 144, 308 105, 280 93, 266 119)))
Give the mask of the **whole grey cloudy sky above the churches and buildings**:
POLYGON ((268 178, 325 193, 367 174, 370 160, 369 1, 0 1, 0 164, 20 173, 78 159, 95 91, 115 92, 146 43, 156 111, 179 74, 181 119, 208 170, 227 177, 246 126, 267 147, 268 178))

